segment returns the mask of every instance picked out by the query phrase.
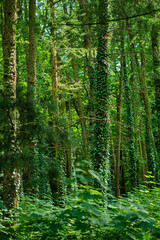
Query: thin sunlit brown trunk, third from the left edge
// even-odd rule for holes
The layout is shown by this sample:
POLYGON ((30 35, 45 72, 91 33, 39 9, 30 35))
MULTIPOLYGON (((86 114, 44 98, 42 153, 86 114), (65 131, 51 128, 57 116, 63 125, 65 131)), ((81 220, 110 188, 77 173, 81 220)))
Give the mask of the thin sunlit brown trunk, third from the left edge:
MULTIPOLYGON (((51 79, 52 79, 52 99, 54 104, 54 112, 53 112, 53 131, 58 136, 59 130, 57 128, 58 125, 58 113, 59 113, 59 99, 58 99, 58 61, 57 61, 57 50, 56 50, 56 29, 54 24, 56 22, 55 16, 55 6, 54 1, 49 0, 50 4, 50 34, 51 34, 51 79)), ((68 134, 66 134, 66 141, 68 140, 68 134)), ((69 158, 69 151, 66 146, 60 145, 57 141, 55 142, 55 153, 53 156, 53 164, 55 164, 57 174, 54 172, 54 168, 50 170, 50 186, 52 191, 53 202, 55 205, 64 206, 64 164, 62 161, 61 154, 66 153, 66 159, 69 158), (52 178, 54 179, 54 185, 52 184, 52 178)), ((70 162, 71 163, 71 162, 70 162)), ((67 165, 68 166, 68 165, 67 165)), ((70 166, 69 166, 70 167, 70 166)), ((69 172, 70 173, 70 172, 69 172)))

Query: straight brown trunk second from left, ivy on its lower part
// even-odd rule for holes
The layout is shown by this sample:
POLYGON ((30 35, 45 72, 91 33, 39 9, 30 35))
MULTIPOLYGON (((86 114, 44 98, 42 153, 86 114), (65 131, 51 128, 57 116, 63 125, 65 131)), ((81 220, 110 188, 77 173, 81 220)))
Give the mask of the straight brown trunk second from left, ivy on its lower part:
MULTIPOLYGON (((26 2, 25 2, 26 3, 26 2)), ((27 142, 30 152, 30 162, 26 162, 24 170, 24 192, 38 194, 38 152, 35 129, 36 104, 36 0, 29 0, 29 54, 28 54, 28 81, 27 81, 27 142)))

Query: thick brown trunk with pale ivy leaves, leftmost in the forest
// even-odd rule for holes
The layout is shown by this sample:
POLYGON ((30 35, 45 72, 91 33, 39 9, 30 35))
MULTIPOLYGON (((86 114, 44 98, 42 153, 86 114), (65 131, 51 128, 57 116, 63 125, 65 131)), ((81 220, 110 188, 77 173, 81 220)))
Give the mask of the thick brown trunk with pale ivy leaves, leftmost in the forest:
POLYGON ((6 0, 4 5, 4 96, 6 105, 6 122, 4 126, 4 178, 3 203, 10 209, 17 205, 17 141, 16 141, 16 20, 17 0, 6 0))

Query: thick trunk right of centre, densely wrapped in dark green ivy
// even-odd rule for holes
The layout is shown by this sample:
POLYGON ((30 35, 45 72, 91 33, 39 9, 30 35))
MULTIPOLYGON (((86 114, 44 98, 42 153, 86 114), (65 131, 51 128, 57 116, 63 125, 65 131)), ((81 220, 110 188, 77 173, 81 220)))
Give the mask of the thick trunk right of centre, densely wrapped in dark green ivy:
MULTIPOLYGON (((99 22, 108 20, 108 1, 99 1, 99 22)), ((108 81, 107 81, 107 25, 101 25, 98 31, 97 77, 95 90, 95 132, 93 146, 94 170, 107 181, 108 163, 108 81)), ((97 183, 95 182, 95 186, 97 183)), ((98 185, 97 185, 98 186, 98 185)))

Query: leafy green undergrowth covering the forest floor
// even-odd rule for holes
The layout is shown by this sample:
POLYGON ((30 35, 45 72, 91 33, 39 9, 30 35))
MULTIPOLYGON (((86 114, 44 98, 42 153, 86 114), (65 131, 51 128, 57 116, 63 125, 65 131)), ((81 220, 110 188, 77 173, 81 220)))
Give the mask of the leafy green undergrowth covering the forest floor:
POLYGON ((12 219, 2 220, 1 239, 158 239, 159 188, 141 186, 127 197, 114 199, 91 187, 78 187, 65 208, 24 198, 12 219), (107 204, 104 204, 110 199, 107 204))

